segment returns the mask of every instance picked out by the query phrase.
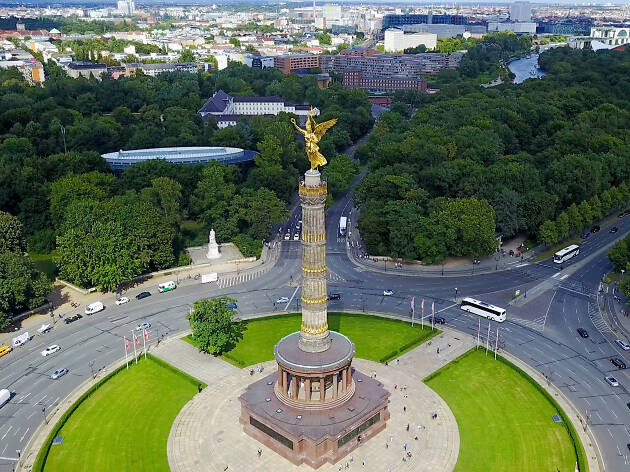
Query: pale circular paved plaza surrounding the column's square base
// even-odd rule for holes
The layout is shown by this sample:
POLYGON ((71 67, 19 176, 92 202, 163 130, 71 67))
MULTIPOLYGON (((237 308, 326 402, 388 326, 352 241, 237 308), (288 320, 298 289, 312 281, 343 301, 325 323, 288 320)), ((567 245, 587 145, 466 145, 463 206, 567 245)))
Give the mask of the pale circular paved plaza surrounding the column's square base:
MULTIPOLYGON (((222 378, 184 406, 168 438, 168 462, 172 472, 312 470, 307 465, 291 464, 247 436, 238 422, 239 395, 248 384, 277 369, 275 361, 262 366, 262 374, 255 371, 251 376, 249 369, 243 369, 222 378), (260 457, 258 448, 262 449, 260 457)), ((391 419, 385 430, 340 462, 326 463, 318 470, 332 472, 340 467, 346 470, 346 462, 348 470, 453 470, 459 451, 459 432, 446 403, 417 375, 412 375, 403 362, 385 366, 355 359, 353 366, 366 375, 376 374, 391 392, 391 419), (436 419, 432 419, 433 413, 437 413, 436 419)))

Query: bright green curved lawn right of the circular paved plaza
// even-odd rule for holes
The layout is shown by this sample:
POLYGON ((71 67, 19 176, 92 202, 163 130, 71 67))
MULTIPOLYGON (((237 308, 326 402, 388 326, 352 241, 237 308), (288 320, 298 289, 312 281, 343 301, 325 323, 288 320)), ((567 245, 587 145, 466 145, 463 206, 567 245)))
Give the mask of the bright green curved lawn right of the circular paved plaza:
POLYGON ((438 372, 426 383, 457 419, 455 472, 574 472, 571 437, 551 419, 556 408, 512 366, 480 349, 438 372))

